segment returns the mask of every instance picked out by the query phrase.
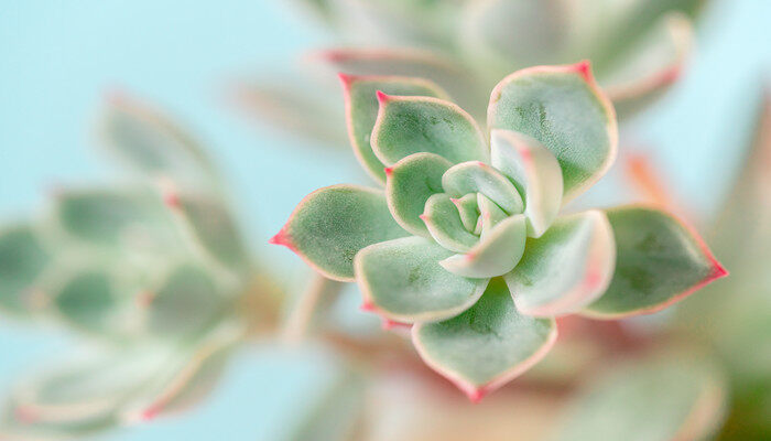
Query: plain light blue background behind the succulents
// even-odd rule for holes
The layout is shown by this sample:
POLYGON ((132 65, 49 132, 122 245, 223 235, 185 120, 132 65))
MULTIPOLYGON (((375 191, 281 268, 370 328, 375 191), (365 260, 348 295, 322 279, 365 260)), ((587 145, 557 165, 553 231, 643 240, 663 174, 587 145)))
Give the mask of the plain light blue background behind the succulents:
MULTIPOLYGON (((280 273, 301 266, 264 246, 312 190, 363 181, 352 155, 290 146, 231 111, 228 80, 270 69, 328 40, 284 1, 3 0, 0 4, 0 215, 39 209, 47 189, 109 178, 89 121, 101 95, 126 89, 187 122, 227 171, 250 241, 280 273)), ((289 3, 289 2, 286 2, 289 3)), ((685 82, 630 130, 654 149, 673 186, 708 213, 741 157, 771 63, 771 1, 716 1, 701 23, 685 82)), ((768 82, 767 82, 768 84, 768 82)), ((64 343, 51 331, 0 326, 0 387, 64 343)), ((319 354, 260 345, 232 365, 214 399, 112 440, 274 440, 326 378, 319 354)))

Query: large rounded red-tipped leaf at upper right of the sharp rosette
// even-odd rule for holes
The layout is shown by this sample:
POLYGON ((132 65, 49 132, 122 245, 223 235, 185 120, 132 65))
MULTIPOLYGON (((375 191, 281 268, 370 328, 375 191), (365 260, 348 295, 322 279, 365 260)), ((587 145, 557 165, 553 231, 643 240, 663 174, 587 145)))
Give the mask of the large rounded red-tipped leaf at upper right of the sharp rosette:
POLYGON ((554 153, 563 203, 597 182, 616 158, 616 112, 587 62, 530 67, 503 78, 492 90, 487 122, 532 137, 554 153))

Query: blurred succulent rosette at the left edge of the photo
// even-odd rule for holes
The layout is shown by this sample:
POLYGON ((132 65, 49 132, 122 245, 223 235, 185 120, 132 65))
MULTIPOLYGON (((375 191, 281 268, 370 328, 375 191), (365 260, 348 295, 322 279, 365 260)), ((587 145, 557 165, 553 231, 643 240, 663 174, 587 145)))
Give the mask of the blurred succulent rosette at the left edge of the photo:
POLYGON ((58 190, 43 216, 0 233, 0 310, 90 343, 10 395, 0 434, 14 440, 182 410, 271 314, 268 280, 198 144, 128 97, 109 100, 99 135, 141 179, 58 190), (254 297, 263 311, 243 308, 254 297))

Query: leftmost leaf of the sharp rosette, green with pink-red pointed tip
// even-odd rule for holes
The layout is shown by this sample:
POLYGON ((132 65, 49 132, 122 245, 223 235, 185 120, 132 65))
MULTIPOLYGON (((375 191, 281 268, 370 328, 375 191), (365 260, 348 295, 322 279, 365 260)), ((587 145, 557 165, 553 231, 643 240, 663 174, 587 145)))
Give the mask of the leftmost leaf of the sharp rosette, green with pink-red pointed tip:
POLYGON ((271 244, 289 247, 330 279, 354 281, 361 248, 404 236, 381 191, 333 185, 307 195, 271 244))

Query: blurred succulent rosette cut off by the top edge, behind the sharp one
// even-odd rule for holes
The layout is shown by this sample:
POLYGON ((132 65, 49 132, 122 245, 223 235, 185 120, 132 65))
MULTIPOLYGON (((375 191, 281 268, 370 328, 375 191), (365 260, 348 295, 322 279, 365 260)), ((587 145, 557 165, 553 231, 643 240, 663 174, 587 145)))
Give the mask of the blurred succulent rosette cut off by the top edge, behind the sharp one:
MULTIPOLYGON (((436 82, 473 116, 496 82, 536 64, 593 62, 620 120, 677 79, 702 0, 301 0, 355 49, 321 51, 312 71, 402 75, 436 82), (379 47, 374 49, 372 45, 379 47)), ((343 116, 325 87, 297 88, 287 73, 239 89, 263 120, 314 141, 341 144, 343 116)), ((296 76, 296 75, 294 75, 296 76)))

